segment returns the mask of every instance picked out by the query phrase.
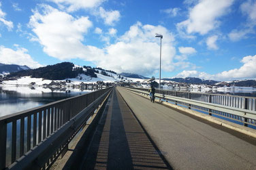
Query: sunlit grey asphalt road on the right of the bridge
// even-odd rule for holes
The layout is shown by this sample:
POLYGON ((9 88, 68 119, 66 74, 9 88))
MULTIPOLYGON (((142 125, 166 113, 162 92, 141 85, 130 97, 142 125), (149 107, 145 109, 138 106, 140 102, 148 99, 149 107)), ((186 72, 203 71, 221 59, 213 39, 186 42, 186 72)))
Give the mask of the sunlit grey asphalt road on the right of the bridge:
POLYGON ((256 140, 117 88, 174 169, 256 169, 256 140))

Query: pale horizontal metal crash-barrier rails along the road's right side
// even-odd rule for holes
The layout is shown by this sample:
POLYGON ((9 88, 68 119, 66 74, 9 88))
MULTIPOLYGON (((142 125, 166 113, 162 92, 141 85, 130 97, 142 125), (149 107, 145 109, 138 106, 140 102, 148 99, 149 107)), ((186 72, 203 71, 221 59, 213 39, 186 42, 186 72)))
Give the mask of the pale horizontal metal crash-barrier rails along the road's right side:
MULTIPOLYGON (((147 91, 142 91, 140 89, 127 88, 129 91, 134 91, 135 93, 142 93, 148 95, 147 91)), ((221 104, 214 104, 209 102, 197 101, 187 98, 179 98, 171 95, 163 95, 161 93, 155 93, 155 96, 161 101, 173 102, 176 105, 186 106, 187 108, 195 108, 197 110, 202 110, 208 112, 209 115, 218 114, 219 116, 227 117, 228 119, 234 119, 244 123, 244 126, 253 125, 256 127, 256 111, 248 110, 244 108, 234 108, 230 106, 224 106, 221 104)))

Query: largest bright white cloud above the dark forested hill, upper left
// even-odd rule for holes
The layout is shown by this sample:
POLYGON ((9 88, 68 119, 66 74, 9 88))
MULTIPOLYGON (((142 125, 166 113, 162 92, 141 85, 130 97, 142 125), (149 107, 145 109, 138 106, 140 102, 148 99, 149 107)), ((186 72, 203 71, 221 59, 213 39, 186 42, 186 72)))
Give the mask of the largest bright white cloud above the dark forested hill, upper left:
MULTIPOLYGON (((84 35, 93 25, 88 17, 74 18, 48 5, 33 11, 29 26, 44 47, 44 52, 54 58, 66 60, 94 53, 95 47, 84 46, 84 35), (39 12, 42 9, 42 14, 39 12)), ((35 38, 33 38, 35 39, 35 38)), ((97 53, 97 49, 95 50, 97 53)))

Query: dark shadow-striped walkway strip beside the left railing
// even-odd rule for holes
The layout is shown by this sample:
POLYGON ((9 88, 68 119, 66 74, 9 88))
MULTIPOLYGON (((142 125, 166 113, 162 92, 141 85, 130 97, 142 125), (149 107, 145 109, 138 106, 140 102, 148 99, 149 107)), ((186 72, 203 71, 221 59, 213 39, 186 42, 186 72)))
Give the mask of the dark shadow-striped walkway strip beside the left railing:
POLYGON ((114 89, 80 169, 171 169, 114 89))

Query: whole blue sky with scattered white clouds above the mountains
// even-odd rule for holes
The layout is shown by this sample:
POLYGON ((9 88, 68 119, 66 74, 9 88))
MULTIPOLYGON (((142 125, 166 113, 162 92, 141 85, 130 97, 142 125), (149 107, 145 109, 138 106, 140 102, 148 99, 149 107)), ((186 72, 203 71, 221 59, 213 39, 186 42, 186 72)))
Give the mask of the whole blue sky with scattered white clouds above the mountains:
POLYGON ((255 0, 3 0, 0 62, 159 77, 256 79, 255 0))

